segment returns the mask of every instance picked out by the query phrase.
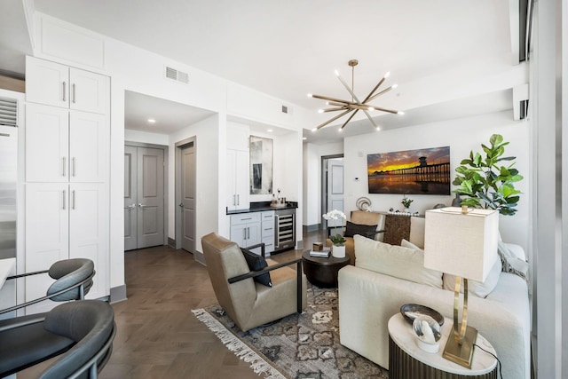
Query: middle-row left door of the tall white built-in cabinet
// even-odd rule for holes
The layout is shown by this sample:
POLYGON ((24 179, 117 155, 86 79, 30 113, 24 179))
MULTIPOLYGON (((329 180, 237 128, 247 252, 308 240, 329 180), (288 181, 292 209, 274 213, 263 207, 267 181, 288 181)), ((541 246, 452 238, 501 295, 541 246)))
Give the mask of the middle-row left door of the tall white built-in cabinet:
POLYGON ((66 109, 26 107, 26 180, 67 182, 69 114, 66 109))

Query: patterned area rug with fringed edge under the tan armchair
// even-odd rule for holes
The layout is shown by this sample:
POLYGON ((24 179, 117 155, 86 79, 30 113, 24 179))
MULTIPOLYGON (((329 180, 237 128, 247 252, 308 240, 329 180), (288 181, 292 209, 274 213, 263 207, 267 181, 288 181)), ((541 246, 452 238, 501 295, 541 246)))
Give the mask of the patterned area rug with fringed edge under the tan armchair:
POLYGON ((306 312, 241 332, 219 305, 193 310, 225 346, 265 378, 384 378, 387 370, 339 343, 337 289, 307 289, 306 312))

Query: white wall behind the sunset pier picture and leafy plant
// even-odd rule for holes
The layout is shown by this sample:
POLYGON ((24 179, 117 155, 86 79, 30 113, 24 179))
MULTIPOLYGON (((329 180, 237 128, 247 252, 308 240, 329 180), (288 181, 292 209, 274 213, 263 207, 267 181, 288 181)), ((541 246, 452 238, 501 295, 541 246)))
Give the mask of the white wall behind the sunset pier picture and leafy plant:
MULTIPOLYGON (((356 201, 361 196, 372 201, 372 209, 401 209, 399 194, 368 193, 367 154, 388 153, 417 148, 450 146, 452 181, 454 170, 462 159, 469 157, 469 151, 482 152, 481 144, 488 144, 492 134, 501 134, 509 141, 505 154, 517 156, 517 170, 525 177, 518 183, 525 196, 521 197, 517 214, 513 217, 500 217, 501 236, 504 241, 517 243, 528 248, 529 231, 529 132, 530 123, 513 121, 511 111, 496 114, 482 114, 476 117, 432 122, 398 130, 383 130, 362 136, 345 138, 345 209, 356 209, 356 201), (354 178, 359 177, 359 182, 354 178), (522 231, 522 233, 520 233, 522 231)), ((408 195, 413 199, 412 209, 421 214, 438 203, 450 205, 454 195, 408 195)))

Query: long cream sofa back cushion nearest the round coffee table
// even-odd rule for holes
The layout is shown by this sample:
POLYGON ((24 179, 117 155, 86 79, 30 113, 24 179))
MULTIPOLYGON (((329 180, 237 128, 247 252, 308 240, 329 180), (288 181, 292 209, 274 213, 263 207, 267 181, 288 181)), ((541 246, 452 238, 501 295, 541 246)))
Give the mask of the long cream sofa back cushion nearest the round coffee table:
POLYGON ((421 250, 389 245, 360 235, 355 235, 353 241, 357 267, 442 288, 442 272, 424 267, 424 253, 421 250))

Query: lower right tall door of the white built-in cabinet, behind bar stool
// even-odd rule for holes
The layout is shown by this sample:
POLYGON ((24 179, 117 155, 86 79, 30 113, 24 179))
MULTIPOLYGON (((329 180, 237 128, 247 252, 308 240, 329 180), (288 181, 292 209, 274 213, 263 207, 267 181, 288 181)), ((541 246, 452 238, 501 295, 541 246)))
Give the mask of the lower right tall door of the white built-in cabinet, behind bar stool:
POLYGON ((69 185, 69 258, 89 258, 95 277, 87 298, 108 295, 108 209, 104 185, 69 185))

